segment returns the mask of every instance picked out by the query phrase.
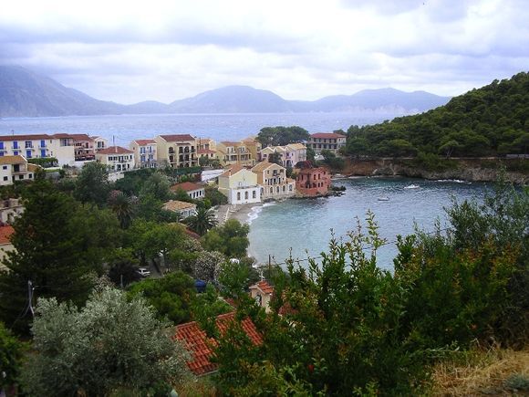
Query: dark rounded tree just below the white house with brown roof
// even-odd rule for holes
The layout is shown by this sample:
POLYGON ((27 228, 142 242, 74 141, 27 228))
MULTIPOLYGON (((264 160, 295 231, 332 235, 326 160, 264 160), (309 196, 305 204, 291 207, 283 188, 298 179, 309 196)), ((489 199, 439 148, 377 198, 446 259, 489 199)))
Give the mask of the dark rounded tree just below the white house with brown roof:
POLYGON ((78 174, 74 197, 82 203, 94 203, 99 207, 109 197, 109 172, 104 164, 87 162, 78 174))

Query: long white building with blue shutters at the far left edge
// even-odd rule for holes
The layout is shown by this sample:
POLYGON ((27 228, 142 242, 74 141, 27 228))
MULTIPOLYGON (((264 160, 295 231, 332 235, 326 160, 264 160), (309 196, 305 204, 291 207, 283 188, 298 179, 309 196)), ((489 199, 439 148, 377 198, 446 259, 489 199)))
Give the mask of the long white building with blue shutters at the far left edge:
POLYGON ((18 155, 26 159, 54 157, 58 165, 75 165, 74 139, 65 133, 0 136, 0 157, 18 155))

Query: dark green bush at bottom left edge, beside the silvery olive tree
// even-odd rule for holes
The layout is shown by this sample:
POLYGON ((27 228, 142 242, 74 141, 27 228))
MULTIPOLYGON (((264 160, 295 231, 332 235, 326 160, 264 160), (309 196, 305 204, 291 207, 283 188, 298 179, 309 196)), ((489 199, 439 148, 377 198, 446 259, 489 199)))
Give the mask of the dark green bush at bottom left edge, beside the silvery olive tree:
POLYGON ((16 383, 25 347, 0 322, 0 391, 16 383))

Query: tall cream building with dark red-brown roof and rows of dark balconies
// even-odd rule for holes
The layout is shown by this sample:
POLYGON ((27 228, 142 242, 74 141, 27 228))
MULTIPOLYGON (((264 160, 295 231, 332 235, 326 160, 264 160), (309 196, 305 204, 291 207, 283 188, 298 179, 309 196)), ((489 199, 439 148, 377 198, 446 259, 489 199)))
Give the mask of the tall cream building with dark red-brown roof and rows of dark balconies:
POLYGON ((154 138, 158 151, 158 163, 171 168, 187 168, 199 165, 197 142, 189 134, 158 135, 154 138))

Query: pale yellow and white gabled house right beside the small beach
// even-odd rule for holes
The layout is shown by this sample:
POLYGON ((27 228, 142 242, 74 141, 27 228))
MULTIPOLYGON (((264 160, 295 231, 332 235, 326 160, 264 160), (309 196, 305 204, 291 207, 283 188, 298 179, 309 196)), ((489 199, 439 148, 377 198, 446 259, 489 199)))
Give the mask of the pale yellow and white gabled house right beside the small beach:
POLYGON ((233 165, 219 176, 219 192, 228 197, 229 204, 261 202, 257 174, 242 165, 233 165))

